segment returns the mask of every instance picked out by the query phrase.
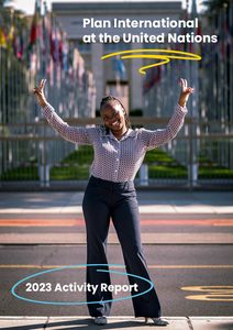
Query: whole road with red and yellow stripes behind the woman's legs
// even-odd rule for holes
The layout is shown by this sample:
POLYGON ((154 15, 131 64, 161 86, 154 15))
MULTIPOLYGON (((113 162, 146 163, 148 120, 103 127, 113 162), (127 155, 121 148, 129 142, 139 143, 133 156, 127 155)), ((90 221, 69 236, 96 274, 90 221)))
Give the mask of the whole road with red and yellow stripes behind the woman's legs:
MULTIPOLYGON (((35 202, 35 195, 33 196, 35 202)), ((7 198, 10 200, 9 196, 7 198)), ((145 198, 148 202, 148 196, 145 198)), ((180 200, 180 196, 178 198, 180 200)), ((26 202, 29 200, 27 195, 26 202)), ((203 211, 202 206, 200 211, 196 209, 188 212, 188 207, 185 206, 186 211, 169 212, 171 204, 164 204, 166 211, 152 212, 149 207, 142 211, 144 252, 163 315, 232 316, 233 212, 230 200, 232 199, 225 199, 221 205, 215 196, 210 206, 211 210, 215 207, 215 211, 203 211), (221 212, 221 206, 226 211, 221 212)), ((52 205, 45 197, 44 202, 52 205)), ((19 296, 27 299, 71 302, 68 306, 24 301, 11 294, 12 286, 30 275, 86 262, 85 226, 80 212, 58 212, 56 209, 55 212, 47 210, 43 213, 37 206, 37 211, 29 207, 30 211, 24 212, 22 210, 26 209, 25 204, 21 204, 21 199, 18 202, 12 200, 12 205, 8 205, 8 211, 2 208, 0 212, 0 316, 87 316, 86 305, 71 305, 85 301, 84 290, 54 292, 56 285, 84 284, 84 266, 42 274, 25 280, 15 289, 19 296), (26 292, 33 283, 51 284, 52 289, 26 292)), ((193 208, 193 204, 191 207, 193 208)), ((112 227, 108 260, 110 264, 123 264, 121 248, 112 227)), ((110 270, 124 272, 123 266, 112 266, 110 270)), ((111 274, 111 278, 112 284, 127 284, 126 276, 111 274)), ((114 298, 126 296, 123 293, 114 298)), ((133 316, 131 299, 115 301, 111 315, 133 316)))

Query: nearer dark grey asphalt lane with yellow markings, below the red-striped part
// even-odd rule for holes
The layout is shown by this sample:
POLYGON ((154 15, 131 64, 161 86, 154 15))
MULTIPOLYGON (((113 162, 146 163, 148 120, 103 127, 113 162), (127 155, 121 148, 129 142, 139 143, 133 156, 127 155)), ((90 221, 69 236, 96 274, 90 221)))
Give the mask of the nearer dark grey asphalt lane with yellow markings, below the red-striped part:
MULTIPOLYGON (((149 273, 159 295, 164 315, 168 316, 231 316, 233 300, 233 265, 231 245, 145 245, 149 273), (187 287, 192 287, 187 290, 187 287), (215 288, 212 288, 215 286, 215 288), (228 286, 232 286, 231 289, 228 286), (202 290, 200 290, 202 288, 202 290), (219 296, 220 295, 220 296, 219 296), (230 295, 230 296, 229 296, 230 295), (195 296, 187 299, 187 296, 195 296), (204 296, 204 297, 203 297, 204 296), (196 300, 198 299, 198 300, 196 300)), ((86 306, 49 306, 16 299, 10 288, 20 279, 56 266, 84 264, 86 246, 2 246, 1 315, 76 316, 87 315, 86 306), (10 263, 9 263, 10 261, 10 263)), ((123 264, 119 245, 108 248, 110 264, 123 264)), ((115 267, 111 267, 115 270, 115 267)), ((124 268, 116 268, 124 271, 124 268)), ((44 274, 26 283, 70 284, 85 282, 85 268, 71 268, 44 274)), ((113 284, 126 284, 124 276, 112 276, 113 284)), ((81 293, 27 293, 21 285, 19 295, 55 301, 84 301, 81 293)), ((125 295, 124 295, 125 296, 125 295)), ((115 296, 116 297, 116 296, 115 296)), ((119 295, 118 297, 119 298, 119 295)), ((112 315, 133 315, 131 300, 114 302, 112 315)))

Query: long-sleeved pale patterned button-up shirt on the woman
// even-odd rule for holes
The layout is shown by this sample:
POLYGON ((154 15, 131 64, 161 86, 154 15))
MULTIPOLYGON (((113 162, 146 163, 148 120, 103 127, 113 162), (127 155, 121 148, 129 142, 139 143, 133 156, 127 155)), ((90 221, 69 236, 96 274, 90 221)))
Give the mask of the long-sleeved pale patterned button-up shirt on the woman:
POLYGON ((65 140, 93 146, 95 157, 90 174, 114 183, 133 180, 148 150, 173 140, 181 129, 187 108, 176 106, 175 112, 165 129, 155 131, 129 129, 118 140, 104 127, 69 127, 55 112, 51 105, 43 108, 51 127, 65 140))

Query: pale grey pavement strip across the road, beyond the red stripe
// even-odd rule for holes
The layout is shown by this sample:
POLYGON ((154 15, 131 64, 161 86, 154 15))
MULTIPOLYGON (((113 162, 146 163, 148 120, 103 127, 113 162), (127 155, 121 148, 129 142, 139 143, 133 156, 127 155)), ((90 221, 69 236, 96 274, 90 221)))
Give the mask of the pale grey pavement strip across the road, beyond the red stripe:
MULTIPOLYGON (((82 191, 0 193, 0 215, 81 213, 82 191)), ((137 191, 144 213, 233 215, 233 191, 137 191)))

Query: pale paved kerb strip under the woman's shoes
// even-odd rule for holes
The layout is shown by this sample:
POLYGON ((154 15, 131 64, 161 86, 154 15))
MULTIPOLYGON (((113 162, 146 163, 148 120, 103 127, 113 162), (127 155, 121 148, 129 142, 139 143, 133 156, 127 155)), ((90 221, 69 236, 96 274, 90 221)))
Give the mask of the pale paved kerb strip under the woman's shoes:
MULTIPOLYGON (((174 317, 166 318, 167 330, 232 330, 233 317, 174 317)), ((142 318, 110 317, 107 326, 96 326, 89 317, 0 317, 0 329, 15 330, 58 330, 58 329, 152 329, 142 318)))

